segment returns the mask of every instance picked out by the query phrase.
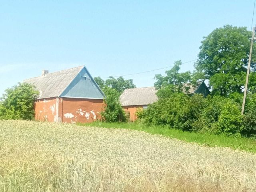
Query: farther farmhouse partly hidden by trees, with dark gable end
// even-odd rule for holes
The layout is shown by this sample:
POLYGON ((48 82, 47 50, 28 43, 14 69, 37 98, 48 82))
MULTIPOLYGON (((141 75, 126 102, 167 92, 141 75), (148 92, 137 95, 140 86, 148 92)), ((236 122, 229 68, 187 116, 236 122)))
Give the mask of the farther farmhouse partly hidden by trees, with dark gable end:
MULTIPOLYGON (((204 97, 210 94, 210 91, 204 81, 200 82, 196 87, 189 87, 190 89, 188 90, 188 92, 190 94, 203 94, 204 97)), ((157 90, 154 87, 126 89, 120 96, 122 108, 124 108, 126 113, 134 115, 137 108, 147 108, 148 104, 151 104, 158 100, 156 92, 157 90)), ((136 117, 131 118, 132 120, 136 119, 136 117)))

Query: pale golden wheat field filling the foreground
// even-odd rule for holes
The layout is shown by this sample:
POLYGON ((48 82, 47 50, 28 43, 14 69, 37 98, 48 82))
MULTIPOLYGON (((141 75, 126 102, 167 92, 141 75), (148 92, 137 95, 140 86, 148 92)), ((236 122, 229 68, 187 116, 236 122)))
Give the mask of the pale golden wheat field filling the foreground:
POLYGON ((133 130, 0 121, 0 191, 256 191, 256 154, 133 130))

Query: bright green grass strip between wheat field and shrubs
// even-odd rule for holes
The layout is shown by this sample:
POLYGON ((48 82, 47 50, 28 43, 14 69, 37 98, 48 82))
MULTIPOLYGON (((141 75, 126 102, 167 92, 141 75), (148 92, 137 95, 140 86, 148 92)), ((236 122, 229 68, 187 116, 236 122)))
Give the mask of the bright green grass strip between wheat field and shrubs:
POLYGON ((230 147, 234 150, 244 150, 256 153, 256 141, 250 138, 235 138, 224 135, 209 135, 195 132, 186 132, 182 130, 170 129, 162 126, 146 126, 141 123, 106 123, 95 121, 92 123, 81 124, 79 126, 95 126, 103 128, 124 128, 130 130, 145 131, 150 134, 160 134, 170 138, 176 138, 186 142, 196 142, 198 144, 214 147, 230 147))

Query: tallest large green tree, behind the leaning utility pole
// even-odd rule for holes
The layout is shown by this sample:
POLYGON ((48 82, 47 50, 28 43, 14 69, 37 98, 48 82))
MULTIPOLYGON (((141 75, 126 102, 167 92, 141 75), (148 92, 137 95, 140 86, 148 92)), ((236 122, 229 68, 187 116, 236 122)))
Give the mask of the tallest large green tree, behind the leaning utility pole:
MULTIPOLYGON (((195 68, 198 73, 204 74, 204 79, 209 80, 213 94, 228 96, 230 93, 243 91, 251 36, 252 32, 246 27, 225 25, 202 40, 195 68)), ((252 55, 251 66, 254 73, 255 46, 252 55)), ((253 89, 255 82, 250 80, 250 84, 253 89)))

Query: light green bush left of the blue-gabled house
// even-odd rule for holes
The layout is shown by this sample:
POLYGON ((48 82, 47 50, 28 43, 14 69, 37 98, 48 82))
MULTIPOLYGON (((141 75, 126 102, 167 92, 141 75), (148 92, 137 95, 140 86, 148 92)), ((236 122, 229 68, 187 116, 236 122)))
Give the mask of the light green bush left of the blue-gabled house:
POLYGON ((24 119, 34 118, 34 100, 38 97, 38 91, 28 83, 6 89, 0 102, 0 119, 24 119))

